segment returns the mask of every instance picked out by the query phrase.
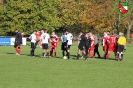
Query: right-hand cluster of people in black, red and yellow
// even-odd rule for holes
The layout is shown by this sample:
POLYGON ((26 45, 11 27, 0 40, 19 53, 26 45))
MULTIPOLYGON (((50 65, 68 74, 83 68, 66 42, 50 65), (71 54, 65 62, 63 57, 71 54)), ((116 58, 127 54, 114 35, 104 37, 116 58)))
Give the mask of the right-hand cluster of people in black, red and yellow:
MULTIPOLYGON (((85 33, 83 34, 80 32, 79 34, 79 46, 76 59, 80 57, 80 51, 83 52, 83 56, 85 60, 88 57, 94 58, 95 52, 98 52, 97 39, 95 38, 96 35, 93 33, 85 33), (97 50, 97 51, 95 51, 97 50)), ((102 46, 104 51, 104 59, 109 60, 110 52, 114 52, 115 60, 122 61, 123 59, 123 50, 125 49, 126 38, 123 36, 122 32, 119 32, 119 35, 115 35, 115 33, 104 32, 102 37, 102 46)), ((99 56, 100 57, 100 56, 99 56)))

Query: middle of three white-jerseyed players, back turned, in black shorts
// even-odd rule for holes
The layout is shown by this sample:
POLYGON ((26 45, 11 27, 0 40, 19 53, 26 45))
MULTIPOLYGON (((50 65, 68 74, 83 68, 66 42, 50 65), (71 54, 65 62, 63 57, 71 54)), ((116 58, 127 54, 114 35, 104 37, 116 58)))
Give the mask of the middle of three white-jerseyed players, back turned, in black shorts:
POLYGON ((49 57, 48 43, 49 43, 50 36, 46 30, 41 30, 41 32, 42 32, 42 35, 40 37, 40 40, 41 40, 42 49, 43 49, 42 57, 45 57, 45 55, 49 57))

